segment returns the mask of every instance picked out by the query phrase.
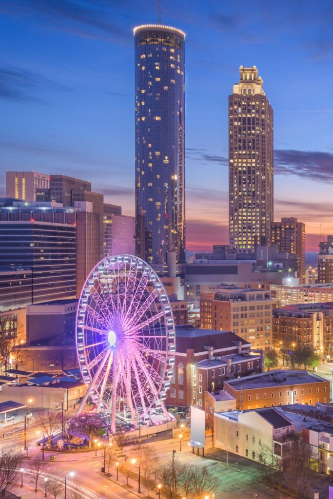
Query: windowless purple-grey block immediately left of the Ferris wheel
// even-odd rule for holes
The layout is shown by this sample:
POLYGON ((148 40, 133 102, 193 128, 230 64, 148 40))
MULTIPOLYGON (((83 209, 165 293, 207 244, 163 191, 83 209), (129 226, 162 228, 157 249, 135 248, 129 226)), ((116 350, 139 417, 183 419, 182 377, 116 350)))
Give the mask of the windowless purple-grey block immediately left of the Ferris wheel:
POLYGON ((26 341, 59 337, 75 340, 77 299, 54 300, 26 307, 26 341))

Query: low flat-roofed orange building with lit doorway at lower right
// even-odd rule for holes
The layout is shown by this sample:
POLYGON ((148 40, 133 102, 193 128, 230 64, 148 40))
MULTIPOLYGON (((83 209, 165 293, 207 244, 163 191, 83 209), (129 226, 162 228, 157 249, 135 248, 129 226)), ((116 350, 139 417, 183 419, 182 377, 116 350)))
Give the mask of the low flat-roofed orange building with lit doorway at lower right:
POLYGON ((330 381, 308 371, 269 371, 227 380, 223 389, 236 398, 240 410, 330 402, 330 381))

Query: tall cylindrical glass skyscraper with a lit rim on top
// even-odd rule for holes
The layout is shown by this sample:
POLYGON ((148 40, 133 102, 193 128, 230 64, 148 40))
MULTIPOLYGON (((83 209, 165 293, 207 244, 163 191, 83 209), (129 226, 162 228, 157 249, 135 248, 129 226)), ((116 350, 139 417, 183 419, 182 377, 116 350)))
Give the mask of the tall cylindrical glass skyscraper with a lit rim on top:
POLYGON ((185 33, 134 29, 136 253, 185 262, 185 33))

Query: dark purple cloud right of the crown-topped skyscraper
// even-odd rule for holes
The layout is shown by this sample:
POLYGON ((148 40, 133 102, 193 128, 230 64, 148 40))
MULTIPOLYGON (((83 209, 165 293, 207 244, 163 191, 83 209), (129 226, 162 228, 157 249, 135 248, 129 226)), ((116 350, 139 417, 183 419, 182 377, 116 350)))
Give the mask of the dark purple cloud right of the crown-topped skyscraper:
POLYGON ((276 150, 274 171, 277 175, 297 175, 316 182, 333 183, 333 154, 293 149, 276 150))

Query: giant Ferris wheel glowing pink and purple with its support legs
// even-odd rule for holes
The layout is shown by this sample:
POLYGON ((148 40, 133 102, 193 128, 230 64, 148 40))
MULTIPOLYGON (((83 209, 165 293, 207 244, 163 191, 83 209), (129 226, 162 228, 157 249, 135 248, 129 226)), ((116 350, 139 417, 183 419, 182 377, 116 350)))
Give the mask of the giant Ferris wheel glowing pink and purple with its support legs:
POLYGON ((96 412, 107 411, 111 431, 135 428, 163 414, 175 355, 169 298, 154 270, 136 256, 101 260, 86 279, 76 316, 76 349, 96 412))

